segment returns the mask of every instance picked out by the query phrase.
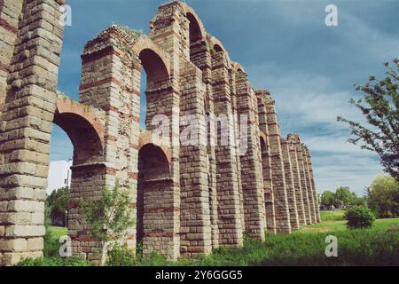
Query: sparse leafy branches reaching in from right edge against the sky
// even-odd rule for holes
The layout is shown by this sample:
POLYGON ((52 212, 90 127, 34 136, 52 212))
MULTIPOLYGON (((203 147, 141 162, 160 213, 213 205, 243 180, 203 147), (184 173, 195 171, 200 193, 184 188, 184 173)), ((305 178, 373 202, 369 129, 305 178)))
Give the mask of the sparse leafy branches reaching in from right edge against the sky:
POLYGON ((350 143, 379 154, 384 170, 399 181, 399 59, 393 62, 395 67, 384 63, 385 79, 370 76, 365 85, 355 85, 356 91, 364 92, 364 99, 350 103, 362 111, 369 127, 342 117, 338 121, 349 124, 354 136, 350 143))

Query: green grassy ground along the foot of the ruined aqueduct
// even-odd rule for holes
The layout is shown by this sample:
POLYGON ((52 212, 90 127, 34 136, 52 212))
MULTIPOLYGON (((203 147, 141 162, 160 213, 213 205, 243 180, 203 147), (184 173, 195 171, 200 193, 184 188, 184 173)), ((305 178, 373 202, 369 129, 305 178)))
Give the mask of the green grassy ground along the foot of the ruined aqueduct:
MULTIPOLYGON (((370 229, 348 230, 342 211, 322 212, 322 223, 303 226, 290 235, 266 234, 266 241, 247 240, 243 248, 219 248, 199 260, 167 262, 162 256, 133 259, 132 265, 399 265, 399 218, 379 219, 370 229), (325 238, 338 239, 338 257, 326 257, 325 238)), ((53 241, 66 234, 65 228, 51 229, 53 241)), ((29 265, 84 265, 82 261, 59 262, 45 258, 29 265)))

